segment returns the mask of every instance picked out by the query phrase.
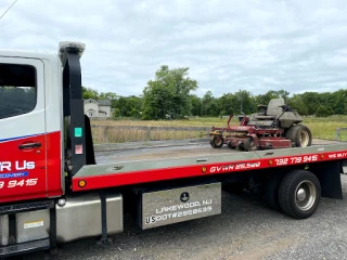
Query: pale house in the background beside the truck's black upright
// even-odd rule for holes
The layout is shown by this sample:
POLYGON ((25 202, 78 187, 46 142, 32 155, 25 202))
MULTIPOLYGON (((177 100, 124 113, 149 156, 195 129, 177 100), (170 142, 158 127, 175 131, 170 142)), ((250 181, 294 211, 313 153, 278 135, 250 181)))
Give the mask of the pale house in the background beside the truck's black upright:
POLYGON ((111 100, 85 100, 85 115, 92 119, 111 118, 111 100))

